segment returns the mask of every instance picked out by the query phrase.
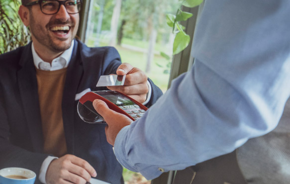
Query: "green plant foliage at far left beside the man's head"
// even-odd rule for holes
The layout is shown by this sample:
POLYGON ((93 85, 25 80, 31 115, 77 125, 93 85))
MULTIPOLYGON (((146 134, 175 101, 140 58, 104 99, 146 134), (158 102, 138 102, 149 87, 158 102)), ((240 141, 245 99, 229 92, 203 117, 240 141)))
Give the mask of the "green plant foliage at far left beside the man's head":
POLYGON ((0 0, 0 54, 26 45, 29 31, 18 16, 19 0, 0 0))

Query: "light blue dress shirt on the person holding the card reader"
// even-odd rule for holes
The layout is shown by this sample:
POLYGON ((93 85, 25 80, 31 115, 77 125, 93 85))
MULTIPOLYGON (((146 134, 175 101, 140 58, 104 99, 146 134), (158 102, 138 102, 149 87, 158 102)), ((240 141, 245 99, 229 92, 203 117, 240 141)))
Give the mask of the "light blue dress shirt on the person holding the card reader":
POLYGON ((115 141, 148 180, 270 132, 290 96, 290 0, 206 0, 198 22, 192 70, 115 141))

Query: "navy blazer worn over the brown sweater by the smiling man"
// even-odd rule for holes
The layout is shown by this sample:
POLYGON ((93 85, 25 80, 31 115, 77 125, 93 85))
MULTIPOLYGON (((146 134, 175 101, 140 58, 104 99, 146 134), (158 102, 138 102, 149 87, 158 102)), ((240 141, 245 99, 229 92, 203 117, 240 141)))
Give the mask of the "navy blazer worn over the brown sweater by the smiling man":
MULTIPOLYGON (((89 48, 75 40, 69 63, 63 100, 63 123, 68 154, 88 161, 97 171, 97 179, 122 184, 122 166, 117 162, 112 146, 107 143, 105 124, 89 124, 77 113, 76 94, 97 88, 101 75, 115 74, 121 64, 113 47, 89 48)), ((152 105, 161 90, 149 80, 152 105)), ((38 100, 36 70, 31 42, 14 51, 0 55, 0 169, 22 167, 34 171, 38 180, 44 159, 43 136, 38 100)))

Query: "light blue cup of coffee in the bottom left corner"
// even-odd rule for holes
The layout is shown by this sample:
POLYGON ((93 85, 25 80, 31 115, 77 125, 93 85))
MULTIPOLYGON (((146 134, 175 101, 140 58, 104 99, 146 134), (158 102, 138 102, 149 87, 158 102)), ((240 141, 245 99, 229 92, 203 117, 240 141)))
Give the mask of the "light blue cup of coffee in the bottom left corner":
POLYGON ((36 174, 24 168, 4 168, 0 170, 0 184, 34 184, 36 174))

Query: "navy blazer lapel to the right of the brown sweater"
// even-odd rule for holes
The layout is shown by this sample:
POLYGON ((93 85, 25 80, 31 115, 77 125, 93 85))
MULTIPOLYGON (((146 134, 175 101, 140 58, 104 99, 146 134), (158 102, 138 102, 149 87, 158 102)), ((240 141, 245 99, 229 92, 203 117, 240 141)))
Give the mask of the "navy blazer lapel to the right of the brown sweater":
POLYGON ((69 63, 66 81, 64 86, 62 112, 64 121, 64 130, 66 136, 67 149, 69 154, 74 154, 74 121, 76 113, 75 97, 78 91, 79 83, 83 75, 83 65, 80 59, 78 42, 75 41, 72 59, 69 63))

